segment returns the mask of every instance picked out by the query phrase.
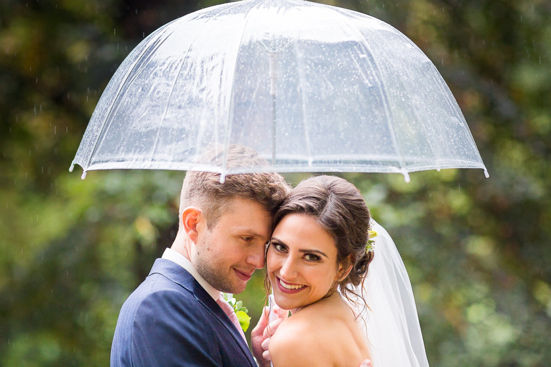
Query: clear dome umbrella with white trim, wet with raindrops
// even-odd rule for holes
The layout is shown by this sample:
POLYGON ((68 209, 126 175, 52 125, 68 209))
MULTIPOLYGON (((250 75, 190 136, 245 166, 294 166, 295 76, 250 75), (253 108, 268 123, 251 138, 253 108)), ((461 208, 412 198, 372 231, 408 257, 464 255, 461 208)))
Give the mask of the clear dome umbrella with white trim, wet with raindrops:
POLYGON ((83 178, 110 168, 488 176, 455 98, 412 41, 368 15, 303 0, 222 4, 153 32, 107 85, 75 163, 83 178), (231 144, 268 165, 198 158, 231 144))

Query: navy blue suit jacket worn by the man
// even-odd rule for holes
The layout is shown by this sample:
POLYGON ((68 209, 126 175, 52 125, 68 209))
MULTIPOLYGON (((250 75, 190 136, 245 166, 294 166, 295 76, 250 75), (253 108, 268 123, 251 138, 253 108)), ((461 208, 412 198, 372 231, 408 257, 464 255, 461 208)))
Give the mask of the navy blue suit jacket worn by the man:
POLYGON ((255 366, 247 343, 190 273, 157 259, 122 305, 111 366, 255 366))

